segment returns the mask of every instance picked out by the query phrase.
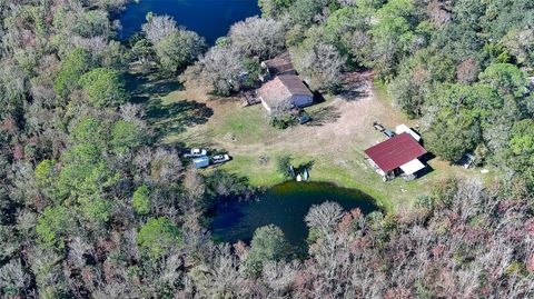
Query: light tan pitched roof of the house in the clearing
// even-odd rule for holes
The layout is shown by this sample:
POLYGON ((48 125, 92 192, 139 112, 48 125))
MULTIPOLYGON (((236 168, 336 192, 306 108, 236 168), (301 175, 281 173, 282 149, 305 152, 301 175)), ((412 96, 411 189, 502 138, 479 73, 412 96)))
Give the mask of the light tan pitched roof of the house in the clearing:
POLYGON ((314 97, 300 78, 295 74, 277 76, 258 90, 258 96, 269 107, 289 100, 294 96, 314 97))

